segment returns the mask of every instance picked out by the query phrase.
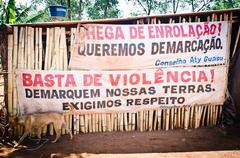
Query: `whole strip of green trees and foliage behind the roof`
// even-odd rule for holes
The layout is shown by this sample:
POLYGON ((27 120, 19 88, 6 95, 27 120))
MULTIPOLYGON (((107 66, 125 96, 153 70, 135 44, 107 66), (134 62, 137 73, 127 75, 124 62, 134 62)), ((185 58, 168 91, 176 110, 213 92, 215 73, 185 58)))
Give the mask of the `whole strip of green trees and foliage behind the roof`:
MULTIPOLYGON (((125 0, 126 1, 126 0, 125 0)), ((192 12, 239 8, 240 0, 127 0, 134 5, 131 15, 192 12)), ((15 4, 15 0, 0 0, 0 23, 31 23, 53 21, 49 17, 49 5, 68 7, 68 17, 63 20, 107 19, 121 17, 120 0, 32 0, 28 4, 15 4), (41 10, 39 10, 41 6, 41 10)), ((18 1, 20 2, 20 1, 18 1)), ((124 10, 129 8, 124 8, 124 10)), ((123 11, 124 11, 123 10, 123 11)))

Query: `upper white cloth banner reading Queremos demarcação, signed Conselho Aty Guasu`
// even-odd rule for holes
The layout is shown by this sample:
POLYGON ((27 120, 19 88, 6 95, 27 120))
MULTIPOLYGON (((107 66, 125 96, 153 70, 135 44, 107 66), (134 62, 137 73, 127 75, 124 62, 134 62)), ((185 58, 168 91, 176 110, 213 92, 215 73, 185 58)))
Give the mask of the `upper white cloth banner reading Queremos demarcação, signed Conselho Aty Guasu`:
POLYGON ((227 21, 84 25, 72 44, 70 68, 125 70, 223 64, 227 21))

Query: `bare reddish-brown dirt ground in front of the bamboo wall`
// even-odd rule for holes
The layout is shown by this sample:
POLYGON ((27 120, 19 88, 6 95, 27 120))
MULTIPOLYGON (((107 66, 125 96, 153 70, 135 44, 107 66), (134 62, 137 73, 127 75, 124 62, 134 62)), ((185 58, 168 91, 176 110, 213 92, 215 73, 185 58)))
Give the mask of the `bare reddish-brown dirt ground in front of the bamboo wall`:
MULTIPOLYGON (((227 128, 224 135, 219 127, 201 127, 199 129, 177 129, 152 132, 106 132, 62 136, 52 144, 47 141, 40 148, 35 140, 26 139, 22 147, 13 149, 1 144, 0 157, 40 158, 64 157, 72 154, 126 154, 126 153, 167 153, 190 151, 240 150, 240 125, 227 128), (54 156, 55 155, 55 156, 54 156)), ((54 137, 45 137, 53 140, 54 137)), ((238 155, 240 152, 238 151, 238 155)), ((75 156, 82 157, 82 156, 75 156)), ((121 157, 121 156, 120 156, 121 157)), ((239 155, 240 157, 240 155, 239 155)))

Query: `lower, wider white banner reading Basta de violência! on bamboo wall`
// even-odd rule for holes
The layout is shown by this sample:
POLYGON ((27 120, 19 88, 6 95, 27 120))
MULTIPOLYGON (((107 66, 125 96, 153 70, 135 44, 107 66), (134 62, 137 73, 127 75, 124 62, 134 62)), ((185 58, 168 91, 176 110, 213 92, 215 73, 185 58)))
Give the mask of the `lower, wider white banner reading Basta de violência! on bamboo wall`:
POLYGON ((79 113, 136 112, 200 104, 222 104, 224 65, 128 71, 19 70, 22 114, 68 110, 79 113))

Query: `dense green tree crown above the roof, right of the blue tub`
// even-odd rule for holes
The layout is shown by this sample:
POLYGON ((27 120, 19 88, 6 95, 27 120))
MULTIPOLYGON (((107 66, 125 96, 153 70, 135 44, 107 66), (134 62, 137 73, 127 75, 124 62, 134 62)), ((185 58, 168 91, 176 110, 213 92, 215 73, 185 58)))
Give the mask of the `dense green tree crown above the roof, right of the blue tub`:
POLYGON ((119 15, 118 0, 95 0, 87 4, 87 16, 90 19, 117 18, 119 15))

